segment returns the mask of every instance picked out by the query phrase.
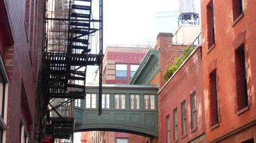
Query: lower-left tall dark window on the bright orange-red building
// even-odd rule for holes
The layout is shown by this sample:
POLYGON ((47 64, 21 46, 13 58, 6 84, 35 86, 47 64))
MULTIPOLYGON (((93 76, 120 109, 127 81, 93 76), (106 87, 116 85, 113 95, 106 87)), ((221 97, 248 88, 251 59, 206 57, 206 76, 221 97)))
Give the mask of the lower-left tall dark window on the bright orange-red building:
POLYGON ((218 97, 216 70, 210 74, 210 120, 211 126, 218 124, 218 97))

